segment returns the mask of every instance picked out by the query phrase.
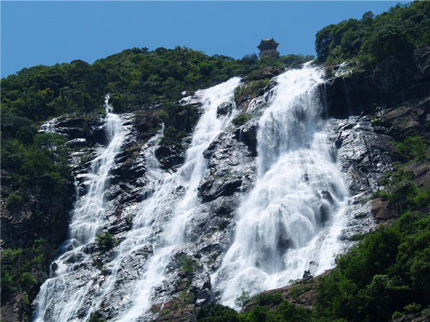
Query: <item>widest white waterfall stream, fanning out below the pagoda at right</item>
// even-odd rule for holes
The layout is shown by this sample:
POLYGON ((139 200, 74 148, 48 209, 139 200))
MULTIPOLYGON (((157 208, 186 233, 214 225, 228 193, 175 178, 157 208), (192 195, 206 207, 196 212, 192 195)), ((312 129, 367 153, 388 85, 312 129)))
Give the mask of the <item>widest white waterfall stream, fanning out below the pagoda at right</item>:
POLYGON ((324 133, 315 68, 288 71, 259 120, 259 179, 238 211, 236 237, 212 276, 221 303, 320 274, 341 249, 348 189, 324 133))

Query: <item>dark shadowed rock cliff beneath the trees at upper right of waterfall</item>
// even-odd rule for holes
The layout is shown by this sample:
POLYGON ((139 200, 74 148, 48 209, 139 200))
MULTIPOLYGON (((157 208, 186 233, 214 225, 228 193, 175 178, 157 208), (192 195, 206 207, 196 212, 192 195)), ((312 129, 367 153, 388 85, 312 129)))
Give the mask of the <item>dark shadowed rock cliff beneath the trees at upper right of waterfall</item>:
POLYGON ((320 85, 331 117, 359 115, 375 106, 389 108, 430 95, 430 48, 387 57, 374 71, 359 71, 320 85))

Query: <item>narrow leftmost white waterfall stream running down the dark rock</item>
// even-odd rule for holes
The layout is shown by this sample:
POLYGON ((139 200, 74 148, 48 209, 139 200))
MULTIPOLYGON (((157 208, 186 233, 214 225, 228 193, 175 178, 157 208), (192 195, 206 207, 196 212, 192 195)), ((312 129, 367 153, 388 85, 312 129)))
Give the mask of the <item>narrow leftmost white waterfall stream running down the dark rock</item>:
POLYGON ((121 118, 110 113, 112 108, 108 100, 109 96, 105 100, 107 115, 104 126, 109 145, 91 162, 91 172, 85 175, 89 189, 74 204, 69 239, 61 246, 54 261, 56 269, 53 276, 41 286, 34 319, 37 322, 70 321, 79 310, 94 277, 89 273, 77 278, 76 271, 91 262, 86 246, 103 228, 103 216, 109 208, 109 204, 104 202, 108 173, 125 135, 121 118))

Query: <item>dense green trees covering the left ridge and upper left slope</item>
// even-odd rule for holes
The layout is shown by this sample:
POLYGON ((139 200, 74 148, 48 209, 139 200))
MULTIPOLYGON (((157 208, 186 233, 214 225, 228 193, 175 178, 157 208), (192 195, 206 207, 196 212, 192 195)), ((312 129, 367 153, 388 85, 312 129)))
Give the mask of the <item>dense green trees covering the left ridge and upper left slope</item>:
MULTIPOLYGON (((178 46, 154 51, 132 48, 91 65, 77 60, 23 68, 1 79, 1 167, 12 170, 28 183, 31 177, 48 175, 47 179, 53 179, 58 187, 66 178, 64 159, 59 160, 64 157, 64 150, 46 148, 41 142, 46 139, 46 135, 43 139, 36 134, 41 121, 66 113, 102 112, 106 93, 111 93, 111 104, 117 111, 164 102, 161 106, 169 118, 177 109, 174 102, 184 92, 226 81, 231 76, 246 75, 265 66, 282 66, 281 61, 294 64, 305 58, 289 55, 281 60, 259 60, 253 54, 235 60, 207 56, 201 51, 178 46)), ((170 129, 167 140, 183 135, 175 131, 170 129)), ((51 135, 49 140, 54 140, 56 147, 64 143, 59 136, 51 135)))

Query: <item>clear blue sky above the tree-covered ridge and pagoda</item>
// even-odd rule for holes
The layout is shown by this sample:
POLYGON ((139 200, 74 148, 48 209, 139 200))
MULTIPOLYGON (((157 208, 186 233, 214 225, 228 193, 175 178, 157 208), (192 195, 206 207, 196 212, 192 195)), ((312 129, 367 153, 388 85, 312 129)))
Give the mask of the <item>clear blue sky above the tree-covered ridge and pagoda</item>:
POLYGON ((281 55, 315 55, 315 33, 409 1, 1 1, 1 77, 133 47, 186 46, 242 58, 274 38, 281 55))

